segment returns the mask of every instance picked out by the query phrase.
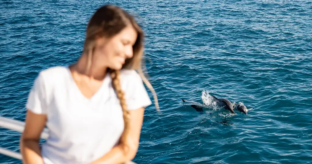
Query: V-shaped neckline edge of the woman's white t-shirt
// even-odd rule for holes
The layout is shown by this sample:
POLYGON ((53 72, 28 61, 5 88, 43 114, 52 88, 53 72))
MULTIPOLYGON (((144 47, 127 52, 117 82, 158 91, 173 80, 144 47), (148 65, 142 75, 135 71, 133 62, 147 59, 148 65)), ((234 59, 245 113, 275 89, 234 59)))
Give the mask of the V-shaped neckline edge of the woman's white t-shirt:
POLYGON ((110 76, 109 76, 110 73, 107 72, 106 75, 105 75, 105 77, 104 77, 104 79, 103 79, 103 81, 102 81, 102 84, 101 84, 100 88, 99 88, 90 98, 87 98, 84 94, 82 94, 82 92, 81 92, 81 90, 79 89, 79 87, 78 87, 76 81, 74 80, 74 77, 73 77, 73 75, 71 74, 71 70, 69 69, 69 65, 66 65, 65 68, 66 68, 66 71, 68 72, 68 75, 69 75, 69 79, 70 79, 70 81, 71 81, 71 84, 74 85, 74 88, 79 92, 79 94, 81 95, 81 97, 83 97, 83 99, 85 99, 85 100, 87 100, 87 101, 92 101, 93 99, 95 99, 95 97, 97 97, 98 94, 100 94, 100 92, 101 92, 103 86, 106 84, 106 81, 107 81, 107 80, 109 79, 109 77, 110 77, 110 76))

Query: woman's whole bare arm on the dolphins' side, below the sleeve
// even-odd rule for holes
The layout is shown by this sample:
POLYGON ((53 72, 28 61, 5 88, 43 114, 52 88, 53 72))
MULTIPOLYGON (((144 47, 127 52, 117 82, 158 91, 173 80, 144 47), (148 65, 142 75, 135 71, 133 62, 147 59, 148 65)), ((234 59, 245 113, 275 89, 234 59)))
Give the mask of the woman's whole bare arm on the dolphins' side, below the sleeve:
POLYGON ((144 108, 136 110, 129 110, 130 114, 130 130, 127 136, 126 145, 119 144, 113 147, 110 152, 106 153, 100 159, 91 162, 90 164, 121 164, 127 161, 131 161, 138 151, 140 133, 143 124, 144 108), (124 146, 129 147, 129 151, 126 151, 124 146), (128 152, 125 154, 125 152, 128 152))

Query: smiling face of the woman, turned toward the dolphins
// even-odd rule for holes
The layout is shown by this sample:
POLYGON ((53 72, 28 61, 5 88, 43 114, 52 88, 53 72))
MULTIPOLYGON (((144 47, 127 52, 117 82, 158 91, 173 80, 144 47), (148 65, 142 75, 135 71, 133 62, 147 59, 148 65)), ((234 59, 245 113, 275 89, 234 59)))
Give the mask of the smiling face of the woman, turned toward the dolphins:
POLYGON ((120 70, 125 60, 133 56, 132 47, 137 36, 134 28, 127 26, 110 39, 97 39, 93 62, 99 66, 120 70))

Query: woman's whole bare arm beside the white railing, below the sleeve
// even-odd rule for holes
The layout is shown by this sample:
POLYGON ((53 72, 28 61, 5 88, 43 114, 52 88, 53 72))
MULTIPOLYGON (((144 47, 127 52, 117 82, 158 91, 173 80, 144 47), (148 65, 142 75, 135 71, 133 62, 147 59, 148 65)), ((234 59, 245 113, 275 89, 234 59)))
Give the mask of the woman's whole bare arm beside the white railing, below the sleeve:
POLYGON ((27 110, 25 129, 20 138, 20 152, 24 164, 44 164, 39 141, 46 125, 46 115, 27 110))

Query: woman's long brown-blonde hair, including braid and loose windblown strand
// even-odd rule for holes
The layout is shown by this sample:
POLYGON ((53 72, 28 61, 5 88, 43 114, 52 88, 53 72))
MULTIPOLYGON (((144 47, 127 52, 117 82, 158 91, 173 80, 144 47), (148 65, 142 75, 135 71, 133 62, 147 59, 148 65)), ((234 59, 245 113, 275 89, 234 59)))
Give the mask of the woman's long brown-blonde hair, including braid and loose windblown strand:
MULTIPOLYGON (((144 35, 142 29, 136 23, 134 18, 129 15, 127 12, 122 10, 119 7, 113 5, 105 5, 97 9, 94 15, 91 17, 87 30, 85 43, 83 48, 83 53, 88 55, 88 65, 87 68, 90 69, 91 59, 93 55, 93 51, 95 49, 95 38, 96 37, 106 37, 110 38, 115 36, 119 31, 125 28, 128 25, 132 25, 132 27, 138 33, 137 40, 133 45, 133 57, 126 59, 122 69, 134 69, 137 70, 142 80, 146 84, 146 86, 152 91, 154 97, 154 103, 156 109, 159 112, 159 105, 157 95, 154 91, 154 88, 149 83, 149 80, 146 79, 144 73, 142 71, 142 56, 143 56, 143 42, 144 35)), ((120 101, 120 105, 123 112, 124 118, 124 131, 120 138, 120 142, 124 142, 124 137, 129 133, 129 113, 127 110, 124 91, 121 89, 121 85, 119 82, 119 70, 111 70, 108 69, 107 72, 110 72, 112 78, 112 86, 114 87, 117 97, 120 101)))

